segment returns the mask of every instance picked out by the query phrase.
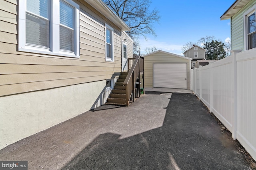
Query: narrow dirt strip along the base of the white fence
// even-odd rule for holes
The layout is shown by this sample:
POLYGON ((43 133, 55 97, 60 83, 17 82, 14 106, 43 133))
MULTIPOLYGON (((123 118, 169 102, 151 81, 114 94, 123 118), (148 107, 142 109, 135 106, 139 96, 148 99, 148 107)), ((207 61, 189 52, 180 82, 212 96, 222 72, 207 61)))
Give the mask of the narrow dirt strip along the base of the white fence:
POLYGON ((246 162, 248 162, 250 167, 253 170, 256 170, 256 161, 252 158, 252 156, 250 156, 250 154, 244 149, 244 147, 238 142, 238 140, 233 140, 231 132, 221 123, 221 121, 213 113, 209 112, 209 114, 218 122, 220 128, 222 129, 222 133, 226 134, 228 140, 230 140, 234 144, 236 149, 244 155, 244 159, 246 160, 246 162))

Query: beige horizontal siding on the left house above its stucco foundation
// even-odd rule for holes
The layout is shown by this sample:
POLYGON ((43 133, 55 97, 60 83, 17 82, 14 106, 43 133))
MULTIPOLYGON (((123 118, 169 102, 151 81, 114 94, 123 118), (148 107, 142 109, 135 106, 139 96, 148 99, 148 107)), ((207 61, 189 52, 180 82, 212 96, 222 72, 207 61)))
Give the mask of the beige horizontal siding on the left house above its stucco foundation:
MULTIPOLYGON (((8 2, 10 1, 10 2, 8 2)), ((0 6, 0 96, 110 79, 121 71, 121 30, 84 0, 80 5, 80 58, 18 49, 17 1, 0 6), (105 23, 114 28, 114 62, 105 61, 105 23)))

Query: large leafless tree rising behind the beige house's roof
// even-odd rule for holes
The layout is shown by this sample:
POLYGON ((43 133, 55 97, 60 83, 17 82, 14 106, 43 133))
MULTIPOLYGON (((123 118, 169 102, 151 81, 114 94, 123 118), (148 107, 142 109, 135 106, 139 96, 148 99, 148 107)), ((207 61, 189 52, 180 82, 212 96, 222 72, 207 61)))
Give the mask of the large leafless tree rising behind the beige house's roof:
POLYGON ((131 30, 127 34, 136 39, 146 34, 156 36, 153 23, 158 22, 158 10, 149 10, 151 0, 103 0, 106 5, 119 16, 131 30))

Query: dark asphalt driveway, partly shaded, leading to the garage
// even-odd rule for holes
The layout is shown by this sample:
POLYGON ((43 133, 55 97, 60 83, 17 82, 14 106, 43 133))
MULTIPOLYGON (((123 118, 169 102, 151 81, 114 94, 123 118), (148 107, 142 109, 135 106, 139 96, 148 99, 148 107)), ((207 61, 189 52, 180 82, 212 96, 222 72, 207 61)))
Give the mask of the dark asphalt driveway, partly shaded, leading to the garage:
POLYGON ((31 170, 250 169, 196 96, 150 91, 20 140, 0 160, 26 160, 31 170))

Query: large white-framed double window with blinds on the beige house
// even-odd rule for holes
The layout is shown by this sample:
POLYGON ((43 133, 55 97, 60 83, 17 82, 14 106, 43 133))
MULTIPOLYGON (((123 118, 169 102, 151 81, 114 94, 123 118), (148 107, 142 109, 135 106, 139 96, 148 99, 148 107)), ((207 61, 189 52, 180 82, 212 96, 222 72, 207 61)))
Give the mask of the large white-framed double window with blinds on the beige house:
POLYGON ((19 0, 18 36, 19 51, 79 58, 79 5, 19 0))

